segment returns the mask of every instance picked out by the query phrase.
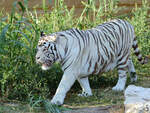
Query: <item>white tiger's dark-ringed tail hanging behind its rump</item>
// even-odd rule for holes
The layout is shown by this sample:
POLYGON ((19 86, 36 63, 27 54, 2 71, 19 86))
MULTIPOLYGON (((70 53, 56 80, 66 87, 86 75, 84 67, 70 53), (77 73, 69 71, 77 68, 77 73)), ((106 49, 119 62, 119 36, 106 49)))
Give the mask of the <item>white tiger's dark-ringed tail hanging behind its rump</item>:
POLYGON ((149 62, 149 57, 145 56, 143 58, 142 54, 140 53, 140 50, 138 48, 138 43, 136 40, 136 37, 133 40, 132 48, 134 49, 134 54, 138 57, 138 61, 143 65, 149 62))

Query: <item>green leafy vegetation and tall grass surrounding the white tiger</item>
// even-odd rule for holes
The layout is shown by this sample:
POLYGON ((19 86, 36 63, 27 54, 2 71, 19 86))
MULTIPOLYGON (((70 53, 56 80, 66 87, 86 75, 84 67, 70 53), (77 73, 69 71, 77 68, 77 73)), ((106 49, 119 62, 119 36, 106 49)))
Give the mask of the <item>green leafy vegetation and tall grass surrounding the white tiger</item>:
MULTIPOLYGON (((43 100, 51 98, 54 94, 63 72, 59 64, 55 64, 49 71, 42 71, 36 64, 35 53, 40 31, 50 34, 73 27, 89 29, 111 19, 125 19, 135 27, 142 54, 150 55, 150 4, 147 0, 142 0, 141 7, 135 4, 132 12, 118 15, 121 10, 117 5, 118 1, 99 0, 101 3, 99 7, 95 6, 94 0, 81 1, 84 9, 79 16, 75 15, 74 7, 67 8, 64 0, 55 0, 51 12, 48 11, 48 5, 43 0, 42 14, 39 14, 36 8, 30 11, 28 0, 14 2, 11 14, 5 14, 2 10, 0 12, 0 101, 18 100, 27 102, 31 108, 34 108, 41 106, 43 100)), ((139 81, 145 77, 150 80, 150 64, 142 66, 134 55, 132 57, 139 81)), ((114 86, 116 81, 116 70, 90 77, 93 89, 107 89, 114 86)), ((70 93, 77 93, 79 89, 79 84, 76 83, 70 93)), ((46 109, 47 105, 51 106, 46 100, 44 103, 46 109)))

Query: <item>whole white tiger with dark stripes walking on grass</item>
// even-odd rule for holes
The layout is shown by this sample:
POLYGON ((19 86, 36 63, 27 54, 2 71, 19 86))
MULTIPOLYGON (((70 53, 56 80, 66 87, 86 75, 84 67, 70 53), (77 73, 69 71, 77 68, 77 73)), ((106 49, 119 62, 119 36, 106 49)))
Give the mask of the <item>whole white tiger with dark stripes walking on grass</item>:
POLYGON ((124 90, 127 70, 131 81, 137 80, 134 65, 129 58, 132 47, 140 63, 146 63, 147 59, 143 59, 139 52, 133 26, 121 19, 88 30, 73 28, 50 35, 41 33, 36 62, 42 65, 43 70, 60 62, 64 71, 51 102, 63 104, 66 93, 76 80, 83 90, 79 96, 92 95, 88 75, 107 72, 115 67, 119 79, 112 89, 124 90))

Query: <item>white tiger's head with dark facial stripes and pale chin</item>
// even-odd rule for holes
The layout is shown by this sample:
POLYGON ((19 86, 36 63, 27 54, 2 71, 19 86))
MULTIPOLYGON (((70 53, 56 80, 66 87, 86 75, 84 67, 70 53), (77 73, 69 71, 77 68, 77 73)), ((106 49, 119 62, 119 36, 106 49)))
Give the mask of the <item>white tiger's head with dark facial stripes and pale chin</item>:
POLYGON ((37 45, 36 62, 42 66, 43 70, 49 69, 57 60, 55 40, 55 35, 45 35, 41 32, 37 45))

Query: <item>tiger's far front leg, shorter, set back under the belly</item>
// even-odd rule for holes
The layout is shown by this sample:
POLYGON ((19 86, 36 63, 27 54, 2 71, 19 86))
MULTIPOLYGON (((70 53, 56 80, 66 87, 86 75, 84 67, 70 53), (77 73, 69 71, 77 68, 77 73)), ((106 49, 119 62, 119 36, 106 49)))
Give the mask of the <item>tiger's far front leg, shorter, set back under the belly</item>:
POLYGON ((84 97, 91 96, 92 91, 91 91, 91 88, 90 88, 88 77, 78 78, 78 82, 79 82, 79 84, 82 88, 82 93, 78 94, 78 96, 84 96, 84 97))

